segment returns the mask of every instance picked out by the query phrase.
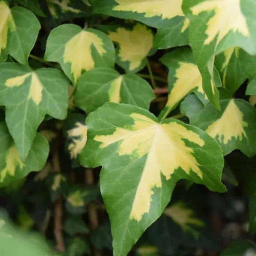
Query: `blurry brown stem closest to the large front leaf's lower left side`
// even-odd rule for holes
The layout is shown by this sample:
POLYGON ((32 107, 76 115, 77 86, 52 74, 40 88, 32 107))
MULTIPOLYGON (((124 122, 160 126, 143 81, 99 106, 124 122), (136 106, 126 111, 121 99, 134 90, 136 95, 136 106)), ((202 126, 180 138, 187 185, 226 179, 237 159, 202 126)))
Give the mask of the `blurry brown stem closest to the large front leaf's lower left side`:
MULTIPOLYGON (((90 168, 85 169, 85 183, 90 186, 94 184, 93 169, 90 169, 90 168)), ((89 227, 91 229, 95 229, 99 226, 97 208, 92 203, 88 205, 88 218, 89 218, 89 227)), ((93 256, 101 256, 101 253, 97 250, 94 250, 93 256)))

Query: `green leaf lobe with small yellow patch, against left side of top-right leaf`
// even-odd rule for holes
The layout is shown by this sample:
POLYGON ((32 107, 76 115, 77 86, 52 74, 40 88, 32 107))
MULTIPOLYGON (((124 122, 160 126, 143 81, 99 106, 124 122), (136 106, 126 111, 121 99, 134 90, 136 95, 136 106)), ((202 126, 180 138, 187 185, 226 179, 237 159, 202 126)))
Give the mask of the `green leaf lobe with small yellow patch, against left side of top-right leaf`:
POLYGON ((158 28, 154 47, 167 49, 176 46, 188 45, 189 20, 182 16, 171 19, 164 27, 158 28))

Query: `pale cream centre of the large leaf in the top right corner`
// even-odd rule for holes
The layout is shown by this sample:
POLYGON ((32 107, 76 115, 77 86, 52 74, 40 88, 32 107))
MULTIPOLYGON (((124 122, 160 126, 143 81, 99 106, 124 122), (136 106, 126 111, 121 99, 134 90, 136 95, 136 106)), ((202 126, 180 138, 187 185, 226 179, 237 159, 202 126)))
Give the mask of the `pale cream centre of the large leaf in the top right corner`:
POLYGON ((240 0, 206 0, 190 8, 194 15, 214 10, 207 23, 207 38, 204 44, 210 44, 216 36, 217 44, 230 32, 239 32, 249 36, 249 29, 241 11, 240 0))

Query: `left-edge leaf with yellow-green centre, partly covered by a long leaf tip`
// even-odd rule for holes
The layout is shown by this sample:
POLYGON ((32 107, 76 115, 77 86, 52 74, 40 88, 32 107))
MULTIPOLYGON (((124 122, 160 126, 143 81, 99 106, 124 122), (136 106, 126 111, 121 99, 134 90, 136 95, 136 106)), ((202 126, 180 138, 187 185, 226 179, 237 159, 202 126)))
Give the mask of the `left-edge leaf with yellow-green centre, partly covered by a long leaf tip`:
POLYGON ((44 167, 49 154, 49 144, 43 135, 36 134, 26 161, 18 155, 7 126, 0 123, 0 187, 13 183, 32 171, 39 171, 44 167))

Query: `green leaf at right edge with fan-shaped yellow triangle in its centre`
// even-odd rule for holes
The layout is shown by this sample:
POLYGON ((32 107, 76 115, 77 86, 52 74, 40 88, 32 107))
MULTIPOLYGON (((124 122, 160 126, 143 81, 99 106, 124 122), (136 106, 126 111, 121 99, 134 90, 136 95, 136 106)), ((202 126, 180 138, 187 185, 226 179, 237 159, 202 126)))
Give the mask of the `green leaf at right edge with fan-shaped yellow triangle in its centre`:
POLYGON ((256 110, 247 101, 220 100, 220 111, 207 104, 190 124, 203 129, 220 144, 223 154, 234 149, 246 156, 256 154, 256 110))

